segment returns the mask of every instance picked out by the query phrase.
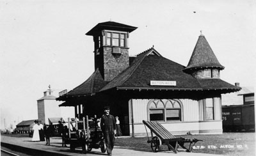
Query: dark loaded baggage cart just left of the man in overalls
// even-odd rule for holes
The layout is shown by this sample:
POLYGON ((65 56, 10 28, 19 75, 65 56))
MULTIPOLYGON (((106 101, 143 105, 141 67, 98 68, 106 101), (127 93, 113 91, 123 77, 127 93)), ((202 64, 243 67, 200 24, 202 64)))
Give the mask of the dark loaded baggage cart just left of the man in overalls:
POLYGON ((72 152, 75 152, 77 147, 82 147, 84 153, 92 151, 92 148, 100 148, 102 153, 106 152, 106 144, 102 131, 97 126, 97 118, 89 120, 86 116, 82 121, 68 118, 68 143, 72 152))

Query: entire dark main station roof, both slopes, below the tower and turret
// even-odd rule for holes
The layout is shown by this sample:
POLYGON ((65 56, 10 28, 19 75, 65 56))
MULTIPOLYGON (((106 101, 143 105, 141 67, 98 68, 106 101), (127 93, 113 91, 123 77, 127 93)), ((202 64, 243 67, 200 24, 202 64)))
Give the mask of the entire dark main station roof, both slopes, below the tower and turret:
POLYGON ((97 68, 82 84, 68 91, 56 100, 66 100, 59 106, 72 106, 70 97, 91 97, 96 93, 111 89, 116 90, 181 90, 209 91, 220 90, 220 93, 231 93, 241 90, 221 79, 196 79, 184 72, 186 66, 166 59, 154 47, 138 54, 132 64, 118 74, 112 81, 106 82, 97 68), (152 86, 150 81, 175 81, 175 86, 152 86), (223 90, 223 91, 222 91, 223 90))

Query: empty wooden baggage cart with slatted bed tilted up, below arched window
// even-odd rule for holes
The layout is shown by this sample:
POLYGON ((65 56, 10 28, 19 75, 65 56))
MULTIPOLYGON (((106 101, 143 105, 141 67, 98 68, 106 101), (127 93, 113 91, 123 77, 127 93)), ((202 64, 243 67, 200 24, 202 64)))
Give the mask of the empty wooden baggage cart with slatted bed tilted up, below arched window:
POLYGON ((145 125, 146 131, 146 126, 148 127, 148 129, 150 129, 152 139, 148 139, 148 143, 151 144, 150 147, 152 148, 153 152, 158 152, 159 146, 161 144, 166 144, 168 146, 168 150, 172 150, 174 153, 177 153, 177 149, 179 148, 179 146, 186 149, 186 152, 191 152, 192 147, 195 145, 195 143, 197 143, 198 141, 202 141, 200 139, 186 139, 184 137, 175 137, 157 121, 143 120, 143 123, 145 125), (156 136, 154 136, 153 133, 156 136), (189 144, 188 148, 184 146, 185 143, 189 144))

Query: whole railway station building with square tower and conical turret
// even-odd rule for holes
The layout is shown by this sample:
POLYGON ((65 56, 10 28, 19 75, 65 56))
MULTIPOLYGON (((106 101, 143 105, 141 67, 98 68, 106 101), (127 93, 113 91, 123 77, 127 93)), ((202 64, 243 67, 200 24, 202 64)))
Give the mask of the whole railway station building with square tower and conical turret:
POLYGON ((93 36, 95 72, 56 98, 63 101, 60 106, 74 106, 77 118, 100 118, 109 105, 127 136, 146 134, 142 120, 159 121, 172 134, 221 134, 221 94, 241 88, 220 79, 224 66, 205 36, 195 41, 183 66, 154 47, 129 56, 129 36, 135 29, 102 22, 86 33, 93 36))

